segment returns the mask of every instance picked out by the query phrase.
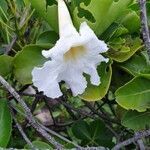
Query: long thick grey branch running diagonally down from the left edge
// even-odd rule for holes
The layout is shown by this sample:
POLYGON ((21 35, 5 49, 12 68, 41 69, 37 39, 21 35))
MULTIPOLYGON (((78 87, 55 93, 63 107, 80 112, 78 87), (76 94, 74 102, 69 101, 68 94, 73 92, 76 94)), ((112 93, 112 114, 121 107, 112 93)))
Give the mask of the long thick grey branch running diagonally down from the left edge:
POLYGON ((5 87, 6 90, 10 92, 10 94, 20 103, 20 105, 23 107, 26 118, 29 121, 29 123, 36 129, 37 132, 39 132, 45 139, 47 139, 51 144, 55 146, 57 149, 61 149, 63 146, 55 141, 53 137, 51 137, 41 126, 38 124, 38 122, 34 119, 30 109, 24 102, 24 100, 20 97, 20 95, 15 91, 15 89, 9 85, 5 79, 0 76, 0 83, 5 87))

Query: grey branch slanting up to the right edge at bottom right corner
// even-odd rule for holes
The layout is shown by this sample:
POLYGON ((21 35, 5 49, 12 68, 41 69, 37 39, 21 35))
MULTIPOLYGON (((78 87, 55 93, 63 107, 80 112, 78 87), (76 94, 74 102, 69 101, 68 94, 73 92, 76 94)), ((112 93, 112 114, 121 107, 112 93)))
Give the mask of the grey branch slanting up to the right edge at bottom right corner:
POLYGON ((138 140, 150 136, 150 130, 138 132, 134 137, 117 144, 113 150, 120 150, 122 147, 130 145, 138 140))

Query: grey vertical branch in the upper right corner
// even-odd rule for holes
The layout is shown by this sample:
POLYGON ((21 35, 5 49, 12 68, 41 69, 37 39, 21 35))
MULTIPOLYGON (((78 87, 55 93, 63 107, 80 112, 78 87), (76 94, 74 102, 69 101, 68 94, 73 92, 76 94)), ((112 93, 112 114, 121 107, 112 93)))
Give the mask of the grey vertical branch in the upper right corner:
POLYGON ((142 27, 143 40, 150 59, 150 35, 149 35, 149 29, 147 23, 146 0, 139 0, 139 6, 141 12, 141 27, 142 27))

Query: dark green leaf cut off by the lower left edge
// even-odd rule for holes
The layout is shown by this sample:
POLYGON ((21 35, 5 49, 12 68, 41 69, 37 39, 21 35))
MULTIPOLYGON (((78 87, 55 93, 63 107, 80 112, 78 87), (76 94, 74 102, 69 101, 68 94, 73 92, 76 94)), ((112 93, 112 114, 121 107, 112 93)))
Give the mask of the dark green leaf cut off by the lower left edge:
POLYGON ((0 147, 5 148, 9 142, 12 130, 12 118, 7 100, 0 99, 0 147))

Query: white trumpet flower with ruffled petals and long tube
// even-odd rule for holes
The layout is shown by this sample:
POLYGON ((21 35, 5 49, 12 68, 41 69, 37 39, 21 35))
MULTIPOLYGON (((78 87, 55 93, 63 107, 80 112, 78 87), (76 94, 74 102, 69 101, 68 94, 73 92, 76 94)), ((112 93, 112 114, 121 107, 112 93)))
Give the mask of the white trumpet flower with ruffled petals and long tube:
POLYGON ((63 0, 58 0, 58 19, 60 39, 53 48, 42 51, 50 60, 32 71, 34 86, 50 98, 62 95, 60 81, 65 81, 74 96, 82 94, 87 87, 83 73, 90 75, 91 84, 98 86, 100 77, 96 68, 102 61, 108 62, 100 54, 108 50, 107 45, 96 37, 86 22, 81 23, 77 32, 63 0))

